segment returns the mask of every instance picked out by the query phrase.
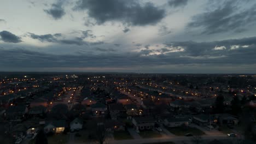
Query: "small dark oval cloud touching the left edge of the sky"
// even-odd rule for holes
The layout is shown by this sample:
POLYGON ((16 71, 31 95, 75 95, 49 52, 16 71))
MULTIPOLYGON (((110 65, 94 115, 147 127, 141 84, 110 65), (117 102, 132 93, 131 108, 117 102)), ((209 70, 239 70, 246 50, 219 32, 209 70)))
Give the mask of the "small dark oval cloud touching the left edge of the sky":
POLYGON ((21 38, 16 36, 13 33, 10 33, 8 31, 2 31, 0 32, 1 40, 3 40, 6 43, 20 43, 21 38))

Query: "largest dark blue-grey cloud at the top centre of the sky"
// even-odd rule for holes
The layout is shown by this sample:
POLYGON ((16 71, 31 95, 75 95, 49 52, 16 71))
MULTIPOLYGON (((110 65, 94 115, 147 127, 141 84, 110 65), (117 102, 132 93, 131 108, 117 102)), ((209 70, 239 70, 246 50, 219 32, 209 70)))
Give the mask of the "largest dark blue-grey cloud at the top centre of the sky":
POLYGON ((119 21, 128 25, 154 25, 165 17, 165 10, 153 3, 140 4, 129 0, 79 0, 75 10, 86 10, 101 25, 107 21, 119 21))

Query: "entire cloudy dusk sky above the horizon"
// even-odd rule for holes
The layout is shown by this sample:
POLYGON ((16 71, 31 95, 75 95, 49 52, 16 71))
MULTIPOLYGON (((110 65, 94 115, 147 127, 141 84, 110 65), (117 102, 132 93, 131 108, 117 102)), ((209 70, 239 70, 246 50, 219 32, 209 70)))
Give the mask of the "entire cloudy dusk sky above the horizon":
POLYGON ((256 73, 254 0, 0 0, 0 71, 256 73))

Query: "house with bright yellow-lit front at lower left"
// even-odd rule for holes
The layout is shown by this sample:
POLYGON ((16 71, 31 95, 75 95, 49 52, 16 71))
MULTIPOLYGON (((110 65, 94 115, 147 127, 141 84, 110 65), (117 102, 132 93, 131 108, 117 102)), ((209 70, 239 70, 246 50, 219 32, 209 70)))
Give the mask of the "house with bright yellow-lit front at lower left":
POLYGON ((62 133, 66 128, 65 120, 55 120, 45 122, 44 132, 45 133, 62 133))

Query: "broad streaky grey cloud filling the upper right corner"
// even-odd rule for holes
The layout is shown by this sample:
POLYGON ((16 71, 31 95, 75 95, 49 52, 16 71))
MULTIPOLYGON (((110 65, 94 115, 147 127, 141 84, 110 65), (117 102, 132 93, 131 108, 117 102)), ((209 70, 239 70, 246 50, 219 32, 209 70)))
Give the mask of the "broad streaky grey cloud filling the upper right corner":
POLYGON ((251 7, 244 9, 238 6, 242 2, 246 1, 211 2, 211 10, 195 15, 188 28, 198 28, 196 31, 202 29, 203 34, 246 31, 248 26, 256 22, 256 5, 251 4, 251 7))

